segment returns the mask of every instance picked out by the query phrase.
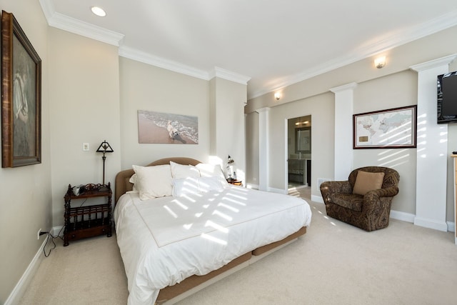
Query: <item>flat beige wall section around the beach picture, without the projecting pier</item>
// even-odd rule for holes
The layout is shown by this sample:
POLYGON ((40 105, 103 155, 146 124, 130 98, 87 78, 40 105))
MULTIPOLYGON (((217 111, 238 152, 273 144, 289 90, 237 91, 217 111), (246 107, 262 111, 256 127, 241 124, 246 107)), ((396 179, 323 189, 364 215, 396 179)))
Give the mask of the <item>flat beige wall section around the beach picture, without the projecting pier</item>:
POLYGON ((209 82, 119 57, 121 91, 121 168, 146 165, 167 156, 208 161, 209 82), (199 144, 139 144, 138 111, 199 118, 199 144))

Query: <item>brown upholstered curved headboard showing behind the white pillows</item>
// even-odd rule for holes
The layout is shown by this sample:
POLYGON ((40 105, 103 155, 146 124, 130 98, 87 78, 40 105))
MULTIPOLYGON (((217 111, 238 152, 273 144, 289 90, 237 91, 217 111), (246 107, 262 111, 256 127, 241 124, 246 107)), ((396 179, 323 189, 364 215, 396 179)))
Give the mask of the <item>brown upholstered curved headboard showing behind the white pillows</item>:
MULTIPOLYGON (((201 163, 200 161, 192 158, 172 157, 159 159, 157 161, 151 162, 147 166, 170 164, 170 161, 174 161, 175 163, 183 165, 197 165, 201 163)), ((114 191, 115 203, 119 200, 120 196, 126 193, 126 191, 131 191, 133 189, 134 185, 129 182, 129 179, 133 174, 135 174, 133 169, 126 169, 124 171, 119 171, 119 173, 116 175, 116 190, 114 191)))

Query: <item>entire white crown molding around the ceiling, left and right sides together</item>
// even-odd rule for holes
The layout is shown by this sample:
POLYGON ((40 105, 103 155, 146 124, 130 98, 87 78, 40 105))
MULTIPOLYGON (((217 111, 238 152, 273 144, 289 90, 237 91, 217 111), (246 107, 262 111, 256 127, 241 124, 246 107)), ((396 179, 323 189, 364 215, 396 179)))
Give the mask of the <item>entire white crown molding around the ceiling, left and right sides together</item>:
MULTIPOLYGON (((221 79, 235 81, 239 84, 247 84, 251 79, 251 77, 243 76, 241 74, 224 70, 219 67, 214 67, 214 71, 196 69, 176 61, 154 56, 152 54, 148 54, 146 52, 139 51, 127 46, 121 46, 122 41, 124 40, 124 34, 119 34, 115 31, 110 31, 108 29, 104 29, 99 26, 94 26, 93 24, 71 18, 64 14, 57 13, 51 0, 39 0, 39 2, 49 26, 53 26, 64 31, 69 31, 74 34, 79 34, 81 36, 86 36, 97 41, 102 41, 106 44, 120 46, 120 56, 134 59, 136 61, 141 61, 146 64, 151 64, 153 66, 159 66, 161 68, 175 71, 181 74, 194 76, 199 79, 210 80, 214 77, 220 77, 221 79)), ((252 94, 249 94, 248 99, 253 99, 255 97, 262 96, 263 94, 268 94, 278 88, 291 86, 292 84, 296 84, 300 81, 310 79, 313 76, 338 69, 342 66, 352 64, 353 62, 359 61, 361 59, 366 59, 367 57, 373 56, 382 51, 393 49, 397 46, 407 44, 408 42, 414 41, 416 39, 421 39, 425 36, 434 34, 438 31, 442 31, 443 29, 448 29, 451 26, 456 25, 457 11, 451 11, 447 14, 439 16, 436 19, 431 19, 430 21, 427 21, 423 24, 413 26, 410 29, 406 29, 405 31, 397 32, 390 36, 386 36, 383 39, 378 39, 378 41, 373 42, 373 44, 368 44, 359 48, 353 53, 352 56, 341 56, 336 59, 332 59, 331 61, 327 61, 323 64, 319 64, 312 69, 303 71, 300 74, 289 76, 280 83, 276 83, 273 86, 268 86, 253 92, 252 94)))

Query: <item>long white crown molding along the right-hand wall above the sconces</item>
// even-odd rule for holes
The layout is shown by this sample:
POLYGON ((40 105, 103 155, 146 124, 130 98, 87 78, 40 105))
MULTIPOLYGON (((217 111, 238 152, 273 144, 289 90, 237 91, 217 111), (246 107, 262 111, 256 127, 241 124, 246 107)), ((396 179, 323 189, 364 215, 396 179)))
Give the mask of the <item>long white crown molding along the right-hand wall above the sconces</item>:
POLYGON ((407 44, 408 42, 421 39, 425 36, 438 33, 438 31, 443 31, 444 29, 448 29, 456 25, 457 11, 450 11, 423 24, 412 26, 405 31, 397 32, 390 36, 386 36, 383 39, 374 42, 373 44, 363 46, 356 50, 353 56, 343 56, 331 61, 327 61, 326 63, 320 64, 313 69, 303 71, 301 74, 290 76, 284 81, 281 81, 281 83, 276 83, 273 86, 269 86, 268 88, 266 87, 253 92, 250 96, 248 96, 248 99, 253 99, 258 96, 262 96, 263 94, 268 94, 278 88, 291 86, 292 84, 296 84, 300 81, 310 79, 313 76, 318 76, 319 74, 341 68, 341 66, 352 64, 353 62, 366 59, 367 57, 381 53, 382 51, 396 48, 397 46, 401 46, 403 44, 407 44))

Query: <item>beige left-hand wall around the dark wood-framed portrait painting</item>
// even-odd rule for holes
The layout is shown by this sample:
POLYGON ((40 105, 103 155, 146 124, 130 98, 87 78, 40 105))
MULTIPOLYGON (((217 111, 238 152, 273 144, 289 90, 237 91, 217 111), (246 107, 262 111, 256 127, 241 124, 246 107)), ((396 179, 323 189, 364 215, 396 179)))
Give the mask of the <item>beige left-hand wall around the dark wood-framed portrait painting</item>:
POLYGON ((39 250, 39 229, 51 229, 51 159, 49 157, 49 56, 46 19, 39 1, 0 0, 13 13, 42 62, 41 164, 0 169, 0 304, 39 250))

